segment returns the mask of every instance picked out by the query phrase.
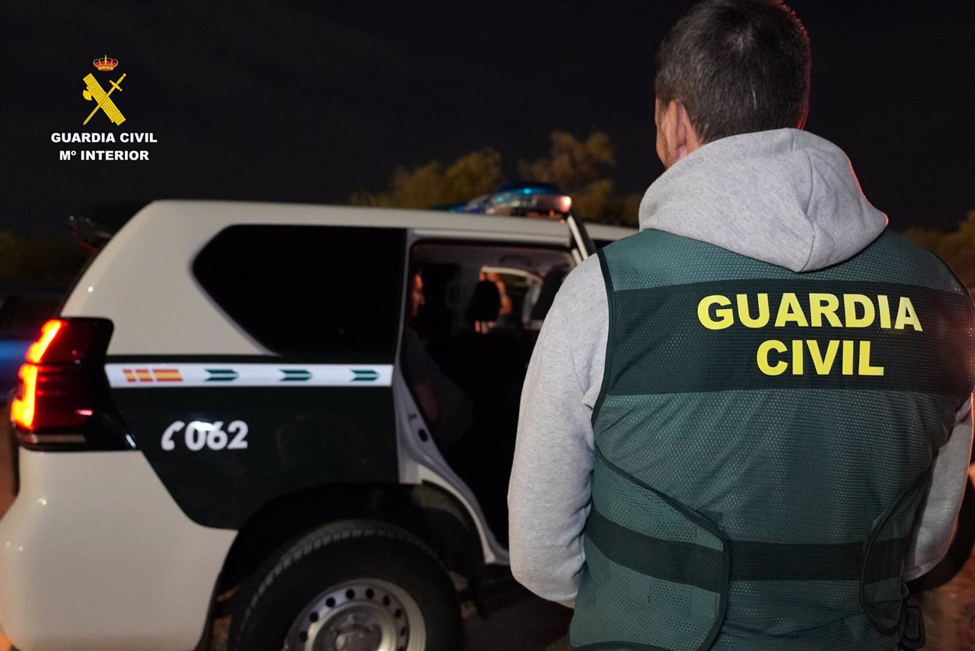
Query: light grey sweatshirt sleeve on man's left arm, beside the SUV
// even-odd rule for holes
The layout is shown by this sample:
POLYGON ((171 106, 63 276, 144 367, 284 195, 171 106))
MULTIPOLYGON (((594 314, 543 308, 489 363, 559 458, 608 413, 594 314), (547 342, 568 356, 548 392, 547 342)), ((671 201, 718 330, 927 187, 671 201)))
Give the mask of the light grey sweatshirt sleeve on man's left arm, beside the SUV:
POLYGON ((575 598, 593 468, 592 407, 603 381, 607 304, 596 256, 566 278, 542 326, 522 392, 508 488, 515 578, 553 601, 575 598))

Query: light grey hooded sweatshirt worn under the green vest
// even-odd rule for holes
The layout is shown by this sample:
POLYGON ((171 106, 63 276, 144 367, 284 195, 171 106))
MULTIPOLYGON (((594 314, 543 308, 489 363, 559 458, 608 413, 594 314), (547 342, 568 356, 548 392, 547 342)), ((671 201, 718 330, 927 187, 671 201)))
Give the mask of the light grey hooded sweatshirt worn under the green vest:
MULTIPOLYGON (((846 155, 795 129, 715 140, 650 185, 640 228, 701 240, 796 272, 841 262, 873 242, 887 218, 860 190, 846 155)), ((575 598, 585 562, 593 405, 603 383, 608 307, 596 256, 565 279, 542 327, 522 394, 508 490, 511 568, 531 592, 575 598)), ((945 555, 968 471, 971 400, 938 450, 908 549, 908 578, 945 555)))

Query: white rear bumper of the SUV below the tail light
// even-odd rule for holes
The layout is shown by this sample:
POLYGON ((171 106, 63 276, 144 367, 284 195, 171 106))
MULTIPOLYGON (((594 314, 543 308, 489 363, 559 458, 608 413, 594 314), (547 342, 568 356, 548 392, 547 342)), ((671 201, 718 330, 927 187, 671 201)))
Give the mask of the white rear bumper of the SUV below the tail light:
POLYGON ((23 651, 189 651, 235 535, 185 517, 139 452, 21 449, 0 623, 23 651))

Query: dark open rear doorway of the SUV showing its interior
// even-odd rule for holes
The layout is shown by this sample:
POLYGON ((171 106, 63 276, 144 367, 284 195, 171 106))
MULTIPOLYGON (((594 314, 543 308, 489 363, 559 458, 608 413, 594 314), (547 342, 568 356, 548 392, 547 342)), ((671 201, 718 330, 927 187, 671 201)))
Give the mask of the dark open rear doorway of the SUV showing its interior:
POLYGON ((404 377, 502 544, 522 383, 569 263, 562 251, 492 245, 418 244, 411 253, 404 377))

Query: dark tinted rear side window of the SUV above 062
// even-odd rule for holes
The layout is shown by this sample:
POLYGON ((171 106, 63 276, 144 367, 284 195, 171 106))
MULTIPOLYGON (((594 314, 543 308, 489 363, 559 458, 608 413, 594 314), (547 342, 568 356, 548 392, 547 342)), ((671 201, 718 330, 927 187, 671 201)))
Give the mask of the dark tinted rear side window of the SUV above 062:
POLYGON ((406 232, 237 225, 193 262, 197 281, 266 348, 310 361, 391 362, 406 232))

